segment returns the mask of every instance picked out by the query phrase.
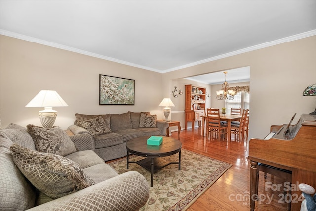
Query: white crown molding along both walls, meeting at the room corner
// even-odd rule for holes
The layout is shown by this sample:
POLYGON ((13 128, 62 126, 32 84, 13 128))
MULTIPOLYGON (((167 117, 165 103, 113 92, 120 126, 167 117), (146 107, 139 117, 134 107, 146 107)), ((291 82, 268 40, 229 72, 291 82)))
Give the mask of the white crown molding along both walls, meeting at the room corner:
POLYGON ((284 43, 284 42, 291 42, 291 41, 303 39, 303 38, 306 38, 306 37, 314 36, 314 35, 316 35, 316 30, 303 32, 303 33, 300 33, 300 34, 297 34, 297 35, 289 36, 289 37, 278 39, 278 40, 271 41, 271 42, 265 42, 265 43, 262 43, 262 44, 258 44, 258 45, 254 45, 254 46, 251 46, 251 47, 247 47, 247 48, 243 48, 243 49, 240 49, 240 50, 236 50, 236 51, 233 51, 233 52, 230 52, 230 53, 225 53, 225 54, 222 54, 222 55, 219 55, 219 56, 214 56, 214 57, 211 57, 211 58, 208 58, 208 59, 203 59, 203 60, 200 60, 200 61, 197 61, 197 62, 193 62, 193 63, 189 63, 189 64, 186 64, 186 65, 170 68, 170 69, 167 69, 167 70, 158 70, 158 69, 155 69, 155 68, 150 68, 150 67, 134 64, 134 63, 131 63, 131 62, 115 59, 115 58, 112 58, 112 57, 103 56, 103 55, 96 54, 96 53, 91 53, 91 52, 88 52, 88 51, 85 51, 85 50, 80 50, 80 49, 77 49, 77 48, 73 48, 73 47, 69 47, 69 46, 66 46, 66 45, 57 44, 57 43, 54 43, 54 42, 48 42, 48 41, 40 40, 40 39, 37 39, 37 38, 33 38, 33 37, 30 37, 30 36, 26 36, 26 35, 21 35, 21 34, 18 34, 18 33, 10 32, 10 31, 6 31, 6 30, 2 30, 2 29, 0 30, 0 34, 1 35, 5 35, 5 36, 9 36, 9 37, 13 37, 13 38, 17 38, 17 39, 21 39, 21 40, 25 40, 25 41, 29 41, 29 42, 35 42, 35 43, 47 45, 47 46, 50 46, 50 47, 56 47, 56 48, 59 48, 59 49, 68 50, 68 51, 75 52, 75 53, 80 53, 80 54, 87 55, 87 56, 100 58, 100 59, 104 59, 104 60, 108 60, 108 61, 112 61, 112 62, 116 62, 116 63, 128 65, 128 66, 132 66, 132 67, 137 67, 137 68, 150 70, 150 71, 154 71, 154 72, 158 72, 158 73, 167 73, 167 72, 171 72, 171 71, 175 71, 175 70, 179 70, 179 69, 183 69, 183 68, 196 66, 196 65, 203 64, 203 63, 206 63, 206 62, 211 62, 211 61, 215 61, 215 60, 218 60, 218 59, 223 59, 223 58, 227 58, 227 57, 230 57, 230 56, 235 56, 235 55, 238 55, 238 54, 241 54, 241 53, 246 53, 246 52, 249 52, 249 51, 258 50, 258 49, 262 49, 262 48, 265 48, 265 47, 270 47, 270 46, 281 44, 281 43, 284 43))

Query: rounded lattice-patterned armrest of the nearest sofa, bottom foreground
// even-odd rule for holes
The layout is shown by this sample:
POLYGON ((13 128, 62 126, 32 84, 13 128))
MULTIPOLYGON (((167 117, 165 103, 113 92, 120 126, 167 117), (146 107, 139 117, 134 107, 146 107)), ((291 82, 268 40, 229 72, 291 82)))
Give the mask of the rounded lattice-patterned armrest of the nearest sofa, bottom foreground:
POLYGON ((134 211, 149 198, 145 177, 129 171, 28 211, 134 211))

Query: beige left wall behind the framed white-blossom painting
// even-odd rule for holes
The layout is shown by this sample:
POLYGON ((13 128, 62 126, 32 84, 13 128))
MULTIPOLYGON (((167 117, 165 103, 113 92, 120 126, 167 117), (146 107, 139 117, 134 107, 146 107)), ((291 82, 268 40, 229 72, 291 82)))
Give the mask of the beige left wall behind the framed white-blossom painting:
POLYGON ((26 108, 40 90, 56 90, 69 105, 56 107, 55 125, 66 129, 75 113, 120 114, 150 111, 162 118, 162 74, 1 35, 1 121, 41 126, 26 108), (135 105, 99 105, 99 74, 135 80, 135 105))

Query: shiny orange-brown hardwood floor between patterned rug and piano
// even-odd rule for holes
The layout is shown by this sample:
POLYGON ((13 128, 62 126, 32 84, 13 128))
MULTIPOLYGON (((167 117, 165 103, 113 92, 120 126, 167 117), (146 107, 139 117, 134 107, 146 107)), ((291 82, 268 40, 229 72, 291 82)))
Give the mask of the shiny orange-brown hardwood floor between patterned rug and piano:
MULTIPOLYGON (((225 161, 233 166, 205 191, 187 211, 249 211, 250 164, 246 158, 247 140, 234 141, 233 136, 231 142, 217 139, 206 140, 205 136, 200 134, 200 127, 194 131, 191 129, 182 130, 180 132, 182 148, 225 161)), ((173 138, 177 138, 177 135, 177 132, 172 133, 173 138)), ((267 188, 265 187, 268 182, 271 182, 270 184, 284 184, 285 181, 269 174, 265 180, 263 173, 260 172, 258 194, 261 200, 256 202, 255 211, 285 211, 287 204, 278 202, 282 200, 283 189, 272 191, 274 188, 271 186, 266 185, 267 188)))

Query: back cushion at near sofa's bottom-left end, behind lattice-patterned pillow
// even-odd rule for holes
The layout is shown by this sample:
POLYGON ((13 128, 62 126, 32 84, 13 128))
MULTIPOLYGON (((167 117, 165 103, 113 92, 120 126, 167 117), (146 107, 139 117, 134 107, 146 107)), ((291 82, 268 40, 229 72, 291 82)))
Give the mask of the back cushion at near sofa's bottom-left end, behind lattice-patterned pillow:
POLYGON ((13 142, 0 138, 0 210, 24 211, 34 207, 35 187, 15 166, 10 146, 13 142))

